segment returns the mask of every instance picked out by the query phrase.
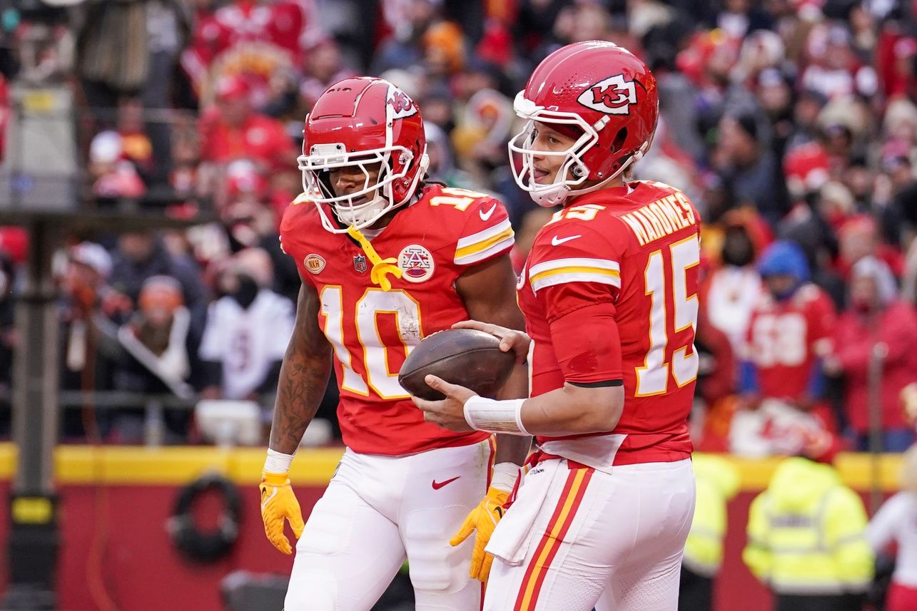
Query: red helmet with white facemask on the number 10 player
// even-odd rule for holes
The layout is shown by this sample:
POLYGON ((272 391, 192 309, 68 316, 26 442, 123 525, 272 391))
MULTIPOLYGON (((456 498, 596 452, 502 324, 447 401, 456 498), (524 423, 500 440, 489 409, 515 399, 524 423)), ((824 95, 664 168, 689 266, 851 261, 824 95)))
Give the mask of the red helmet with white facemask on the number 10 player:
POLYGON ((424 178, 426 157, 424 122, 407 93, 391 82, 367 77, 345 79, 329 87, 305 117, 303 170, 306 196, 315 202, 325 228, 335 234, 370 226, 408 202, 424 178), (379 164, 379 175, 370 170, 379 164), (336 193, 330 170, 357 167, 364 176, 362 189, 336 193), (328 218, 323 204, 333 206, 341 228, 328 218))

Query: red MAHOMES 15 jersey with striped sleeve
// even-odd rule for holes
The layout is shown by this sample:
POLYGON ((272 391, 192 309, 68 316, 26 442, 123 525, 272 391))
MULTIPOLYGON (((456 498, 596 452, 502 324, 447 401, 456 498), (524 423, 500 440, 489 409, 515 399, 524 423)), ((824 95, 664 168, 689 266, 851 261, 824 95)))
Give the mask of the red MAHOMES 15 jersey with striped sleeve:
POLYGON ((565 381, 623 380, 613 464, 691 455, 700 225, 688 198, 662 183, 596 191, 538 232, 519 279, 533 397, 565 381), (620 340, 612 352, 594 342, 609 333, 620 340))

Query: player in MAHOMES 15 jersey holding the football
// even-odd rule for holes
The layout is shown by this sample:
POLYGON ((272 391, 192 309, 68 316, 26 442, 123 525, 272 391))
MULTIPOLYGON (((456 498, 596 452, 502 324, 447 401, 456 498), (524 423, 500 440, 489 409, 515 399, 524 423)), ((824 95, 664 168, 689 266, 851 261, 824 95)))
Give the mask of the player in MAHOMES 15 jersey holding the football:
POLYGON ((628 178, 658 103, 655 78, 626 49, 558 49, 514 106, 527 121, 510 142, 516 180, 563 207, 518 285, 527 335, 463 326, 532 350, 532 397, 482 398, 427 376, 447 399, 414 401, 455 431, 537 437, 486 548, 484 609, 674 611, 694 509, 701 219, 682 191, 628 178))

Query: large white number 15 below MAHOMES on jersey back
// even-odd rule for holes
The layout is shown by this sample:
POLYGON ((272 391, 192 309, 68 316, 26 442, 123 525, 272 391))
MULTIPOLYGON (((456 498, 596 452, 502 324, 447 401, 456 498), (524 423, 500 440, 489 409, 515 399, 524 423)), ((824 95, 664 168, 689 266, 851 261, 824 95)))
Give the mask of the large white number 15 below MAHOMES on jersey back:
POLYGON ((668 391, 669 371, 678 387, 697 378, 698 355, 694 348, 697 327, 697 293, 688 294, 688 270, 701 262, 697 235, 669 246, 669 265, 661 250, 650 254, 644 280, 646 295, 652 300, 649 309, 649 351, 644 366, 636 368, 636 397, 661 395, 668 391), (671 299, 666 291, 671 290, 671 299), (668 311, 667 302, 672 304, 668 311), (683 333, 682 340, 669 341, 668 329, 683 333), (688 350, 691 349, 691 354, 688 350))

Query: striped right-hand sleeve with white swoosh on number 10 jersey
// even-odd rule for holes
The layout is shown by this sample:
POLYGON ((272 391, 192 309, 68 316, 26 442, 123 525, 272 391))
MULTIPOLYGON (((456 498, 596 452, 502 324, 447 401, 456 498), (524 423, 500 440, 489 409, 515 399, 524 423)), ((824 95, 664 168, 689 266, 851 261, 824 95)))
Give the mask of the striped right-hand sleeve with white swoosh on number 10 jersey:
POLYGON ((465 212, 453 262, 470 266, 508 253, 514 244, 513 226, 503 203, 481 198, 465 212))

